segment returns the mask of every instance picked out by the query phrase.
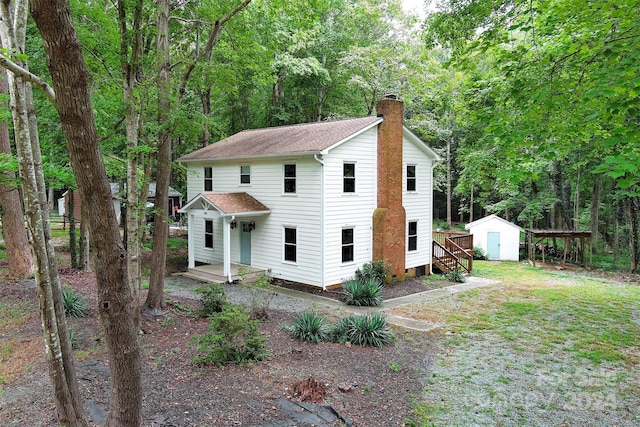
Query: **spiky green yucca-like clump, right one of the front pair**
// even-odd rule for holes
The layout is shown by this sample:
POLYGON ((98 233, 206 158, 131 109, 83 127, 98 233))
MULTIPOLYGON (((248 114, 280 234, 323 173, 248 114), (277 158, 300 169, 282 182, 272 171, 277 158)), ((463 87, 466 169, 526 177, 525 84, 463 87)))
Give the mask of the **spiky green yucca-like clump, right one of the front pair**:
POLYGON ((348 316, 340 319, 333 329, 333 339, 362 346, 382 347, 394 340, 382 313, 348 316))

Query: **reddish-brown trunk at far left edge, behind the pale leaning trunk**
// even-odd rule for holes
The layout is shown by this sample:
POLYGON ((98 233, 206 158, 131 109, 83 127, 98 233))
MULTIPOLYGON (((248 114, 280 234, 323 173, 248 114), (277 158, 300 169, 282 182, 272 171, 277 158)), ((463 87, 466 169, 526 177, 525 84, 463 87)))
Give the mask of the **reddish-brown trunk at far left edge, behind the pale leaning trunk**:
MULTIPOLYGON (((0 69, 0 94, 8 93, 7 73, 0 69)), ((9 127, 0 122, 0 153, 11 155, 9 127)), ((13 172, 7 173, 5 179, 13 181, 13 172)), ((11 279, 26 278, 33 272, 31 247, 24 228, 24 212, 20 190, 11 182, 0 181, 0 206, 2 206, 2 232, 9 264, 8 277, 11 279)))

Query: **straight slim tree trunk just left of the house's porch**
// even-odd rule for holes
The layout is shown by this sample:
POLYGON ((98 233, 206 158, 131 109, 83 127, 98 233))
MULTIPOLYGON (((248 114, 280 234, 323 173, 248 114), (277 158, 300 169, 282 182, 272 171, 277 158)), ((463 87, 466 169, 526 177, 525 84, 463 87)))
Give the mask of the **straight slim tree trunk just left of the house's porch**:
POLYGON ((171 179, 171 131, 168 129, 170 103, 169 68, 169 1, 158 0, 157 47, 160 57, 158 69, 158 172, 154 206, 153 250, 151 253, 151 277, 145 306, 152 311, 162 310, 164 304, 164 275, 169 237, 169 180, 171 179))

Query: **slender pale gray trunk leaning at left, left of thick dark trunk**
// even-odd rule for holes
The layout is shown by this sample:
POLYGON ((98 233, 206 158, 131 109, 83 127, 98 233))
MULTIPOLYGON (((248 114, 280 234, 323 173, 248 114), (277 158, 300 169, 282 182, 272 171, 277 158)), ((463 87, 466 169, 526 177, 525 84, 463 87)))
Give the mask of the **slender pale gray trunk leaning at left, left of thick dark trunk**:
MULTIPOLYGON (((0 33, 2 44, 9 51, 24 52, 27 22, 27 1, 3 0, 0 33)), ((26 63, 17 58, 24 70, 26 63)), ((58 265, 51 239, 46 186, 38 140, 31 85, 22 77, 7 73, 13 116, 16 152, 27 224, 36 258, 36 285, 47 355, 49 377, 54 389, 58 420, 64 425, 86 426, 84 406, 80 398, 73 365, 73 353, 68 339, 58 265)))

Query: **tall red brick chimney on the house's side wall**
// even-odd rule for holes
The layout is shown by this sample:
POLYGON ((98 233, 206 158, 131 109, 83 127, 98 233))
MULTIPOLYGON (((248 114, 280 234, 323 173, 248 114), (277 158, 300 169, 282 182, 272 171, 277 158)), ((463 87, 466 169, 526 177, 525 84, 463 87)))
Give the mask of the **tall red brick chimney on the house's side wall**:
POLYGON ((404 105, 381 99, 378 127, 378 207, 373 213, 373 260, 391 265, 397 280, 405 277, 406 214, 402 206, 402 131, 404 105))

